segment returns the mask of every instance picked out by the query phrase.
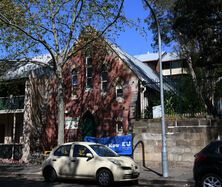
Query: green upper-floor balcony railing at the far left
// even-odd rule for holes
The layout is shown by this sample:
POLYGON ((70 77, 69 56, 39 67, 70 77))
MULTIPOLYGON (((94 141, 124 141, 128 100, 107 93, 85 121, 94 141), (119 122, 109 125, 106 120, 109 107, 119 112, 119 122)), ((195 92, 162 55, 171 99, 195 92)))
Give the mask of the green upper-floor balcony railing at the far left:
POLYGON ((0 110, 24 109, 25 96, 0 97, 0 110))

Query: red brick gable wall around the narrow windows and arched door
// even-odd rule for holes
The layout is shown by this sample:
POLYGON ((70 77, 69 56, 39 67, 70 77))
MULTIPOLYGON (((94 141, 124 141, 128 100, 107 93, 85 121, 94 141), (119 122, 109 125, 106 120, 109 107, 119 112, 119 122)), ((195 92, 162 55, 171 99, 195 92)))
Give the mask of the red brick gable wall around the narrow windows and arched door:
MULTIPOLYGON (((97 129, 96 136, 115 136, 116 124, 123 125, 123 134, 128 133, 129 112, 131 105, 132 90, 129 84, 130 79, 134 76, 125 63, 119 59, 115 53, 107 55, 104 59, 98 59, 92 56, 93 63, 93 88, 85 89, 85 58, 86 55, 79 53, 73 57, 64 67, 65 76, 65 103, 67 116, 81 117, 88 110, 95 117, 97 129), (101 94, 100 73, 101 63, 106 61, 109 66, 108 70, 108 91, 101 94), (77 98, 72 98, 71 71, 73 67, 78 67, 78 87, 77 98), (117 79, 123 81, 123 100, 116 99, 116 82, 117 79)), ((135 78, 135 77, 134 77, 135 78)), ((69 134, 72 138, 81 137, 81 122, 78 130, 66 130, 66 140, 69 134), (79 135, 79 136, 78 136, 79 135)), ((71 138, 71 139, 72 139, 71 138)))

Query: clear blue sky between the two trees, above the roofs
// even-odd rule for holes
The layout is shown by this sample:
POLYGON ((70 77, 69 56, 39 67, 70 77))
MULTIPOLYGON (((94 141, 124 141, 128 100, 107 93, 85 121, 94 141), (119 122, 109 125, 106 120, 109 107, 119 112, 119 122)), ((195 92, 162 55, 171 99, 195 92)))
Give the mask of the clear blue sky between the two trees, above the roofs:
MULTIPOLYGON (((124 12, 128 18, 133 20, 137 20, 137 18, 144 20, 149 15, 149 11, 143 8, 142 0, 125 0, 124 12)), ((130 55, 155 52, 155 49, 151 46, 153 43, 151 31, 147 30, 147 36, 144 37, 135 28, 126 27, 125 31, 119 34, 116 43, 130 55)), ((171 52, 172 47, 162 46, 162 50, 171 52)))

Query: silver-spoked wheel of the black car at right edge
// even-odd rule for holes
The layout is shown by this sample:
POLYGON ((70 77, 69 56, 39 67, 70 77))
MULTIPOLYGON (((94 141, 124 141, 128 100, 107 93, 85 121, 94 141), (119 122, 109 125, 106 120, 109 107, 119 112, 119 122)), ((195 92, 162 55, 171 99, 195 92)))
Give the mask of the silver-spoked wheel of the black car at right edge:
POLYGON ((215 174, 208 174, 201 181, 202 187, 222 187, 222 180, 215 174))

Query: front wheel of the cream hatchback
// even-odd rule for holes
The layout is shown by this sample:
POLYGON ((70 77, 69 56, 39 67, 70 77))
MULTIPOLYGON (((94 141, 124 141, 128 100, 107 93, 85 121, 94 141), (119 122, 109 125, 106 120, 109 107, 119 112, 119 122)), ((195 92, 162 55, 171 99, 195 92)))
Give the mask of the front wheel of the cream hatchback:
POLYGON ((97 182, 100 186, 110 186, 113 183, 112 173, 108 169, 101 169, 96 175, 97 182))

